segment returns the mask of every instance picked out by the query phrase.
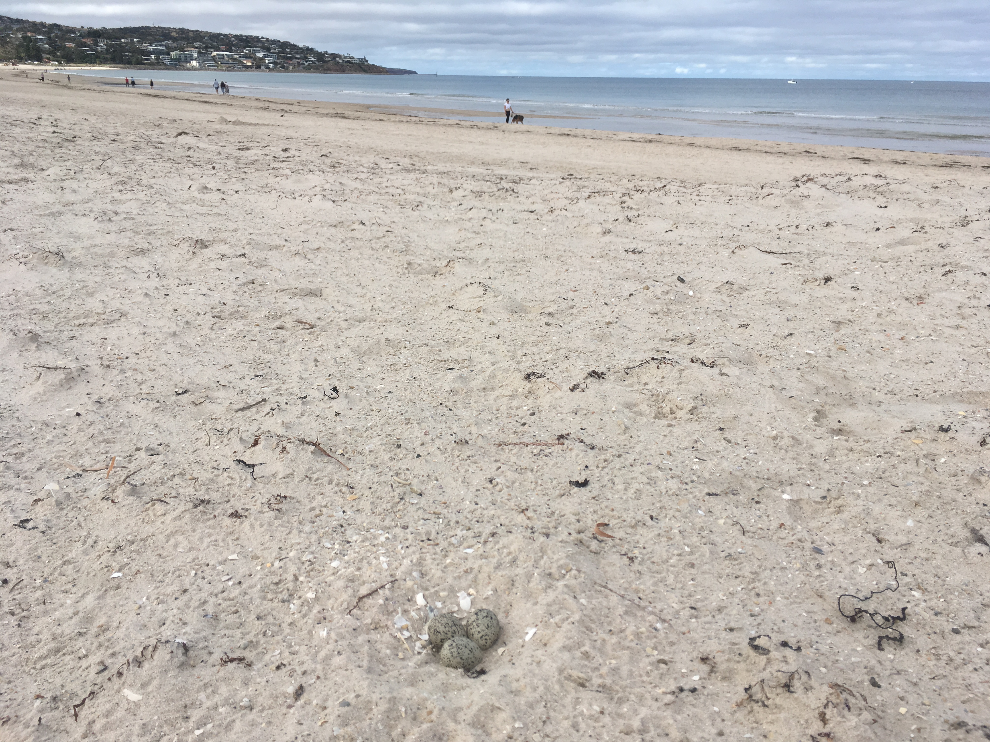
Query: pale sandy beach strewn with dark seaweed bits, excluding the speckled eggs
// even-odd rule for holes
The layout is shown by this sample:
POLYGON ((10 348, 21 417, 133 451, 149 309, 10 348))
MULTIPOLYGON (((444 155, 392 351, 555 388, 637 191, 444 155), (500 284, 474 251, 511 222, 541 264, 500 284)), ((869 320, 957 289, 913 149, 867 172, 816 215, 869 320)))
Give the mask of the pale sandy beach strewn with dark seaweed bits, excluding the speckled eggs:
POLYGON ((49 78, 0 739, 990 738, 990 160, 49 78))

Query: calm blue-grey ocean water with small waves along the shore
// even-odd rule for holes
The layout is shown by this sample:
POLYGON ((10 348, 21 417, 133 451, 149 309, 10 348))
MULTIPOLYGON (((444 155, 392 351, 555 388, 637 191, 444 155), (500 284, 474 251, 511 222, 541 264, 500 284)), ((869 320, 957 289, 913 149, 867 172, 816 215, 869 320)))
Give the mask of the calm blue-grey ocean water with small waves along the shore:
MULTIPOLYGON (((119 70, 121 78, 134 70, 119 70)), ((77 72, 106 76, 106 70, 77 72)), ((115 72, 117 74, 117 72, 115 72)), ((203 86, 215 71, 150 73, 155 87, 203 86), (159 76, 160 75, 160 76, 159 76)), ((148 73, 138 72, 139 81, 148 73)), ((504 121, 511 98, 527 124, 682 137, 845 144, 990 156, 990 83, 225 71, 234 95, 404 106, 410 114, 504 121), (491 116, 425 109, 491 112, 491 116), (499 117, 499 118, 495 118, 499 117), (567 118, 545 118, 567 117, 567 118)))

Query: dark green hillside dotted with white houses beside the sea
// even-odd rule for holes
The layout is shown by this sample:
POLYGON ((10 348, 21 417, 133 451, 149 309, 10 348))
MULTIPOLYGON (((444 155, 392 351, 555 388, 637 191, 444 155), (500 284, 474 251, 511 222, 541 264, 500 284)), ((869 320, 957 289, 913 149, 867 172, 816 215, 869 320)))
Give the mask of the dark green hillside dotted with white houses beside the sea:
POLYGON ((278 39, 163 26, 96 29, 0 16, 0 60, 50 65, 113 64, 182 69, 267 69, 416 74, 363 56, 278 39))

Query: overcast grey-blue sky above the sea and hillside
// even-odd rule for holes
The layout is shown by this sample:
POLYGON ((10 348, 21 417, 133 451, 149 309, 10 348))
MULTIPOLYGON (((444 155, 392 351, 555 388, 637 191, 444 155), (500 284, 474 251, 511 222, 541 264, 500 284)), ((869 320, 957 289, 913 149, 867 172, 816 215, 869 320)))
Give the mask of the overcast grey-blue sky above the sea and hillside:
POLYGON ((988 0, 0 0, 0 14, 258 34, 441 74, 990 80, 988 0))

